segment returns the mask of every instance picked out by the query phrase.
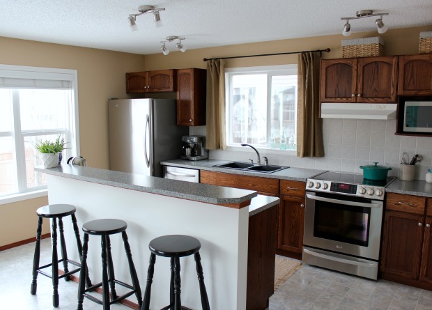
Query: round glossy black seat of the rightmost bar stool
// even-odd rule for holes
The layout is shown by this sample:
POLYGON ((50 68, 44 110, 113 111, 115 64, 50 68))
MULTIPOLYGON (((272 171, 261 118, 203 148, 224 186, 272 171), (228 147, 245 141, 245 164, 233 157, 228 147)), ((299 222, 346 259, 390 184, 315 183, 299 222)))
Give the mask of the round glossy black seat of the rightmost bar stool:
POLYGON ((184 257, 199 251, 201 243, 190 235, 162 235, 151 240, 148 248, 158 256, 184 257))

